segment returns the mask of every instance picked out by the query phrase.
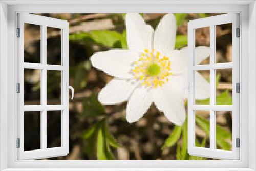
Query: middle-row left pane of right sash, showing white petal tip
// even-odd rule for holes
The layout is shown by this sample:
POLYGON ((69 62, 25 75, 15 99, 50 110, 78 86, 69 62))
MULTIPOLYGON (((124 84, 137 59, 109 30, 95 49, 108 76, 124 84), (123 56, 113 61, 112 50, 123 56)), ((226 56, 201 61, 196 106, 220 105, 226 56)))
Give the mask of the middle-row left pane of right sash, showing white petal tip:
POLYGON ((209 97, 210 87, 205 86, 205 82, 210 83, 210 71, 209 70, 201 70, 195 71, 195 80, 194 80, 194 89, 195 89, 195 104, 200 105, 209 105, 210 99, 206 98, 207 95, 209 97), (204 86, 203 86, 204 85, 204 86))

